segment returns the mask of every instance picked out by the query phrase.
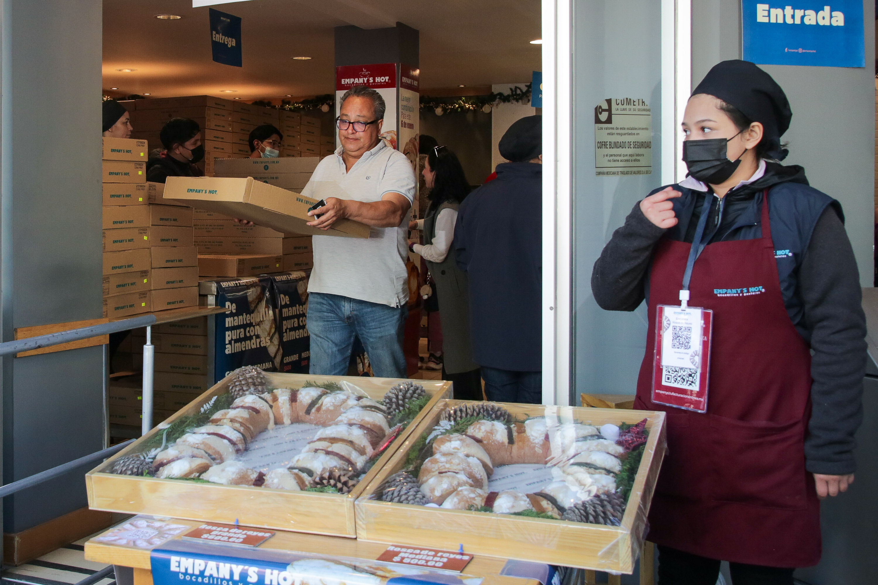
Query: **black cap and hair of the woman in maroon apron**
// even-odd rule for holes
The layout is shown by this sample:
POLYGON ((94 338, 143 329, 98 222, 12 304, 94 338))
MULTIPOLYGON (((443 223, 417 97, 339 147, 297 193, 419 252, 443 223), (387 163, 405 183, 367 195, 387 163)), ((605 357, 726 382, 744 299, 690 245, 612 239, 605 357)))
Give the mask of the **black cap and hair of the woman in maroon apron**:
POLYGON ((735 106, 765 132, 766 157, 782 161, 787 150, 781 147, 781 136, 787 132, 793 111, 781 86, 750 61, 739 59, 716 63, 692 92, 708 94, 735 106))

